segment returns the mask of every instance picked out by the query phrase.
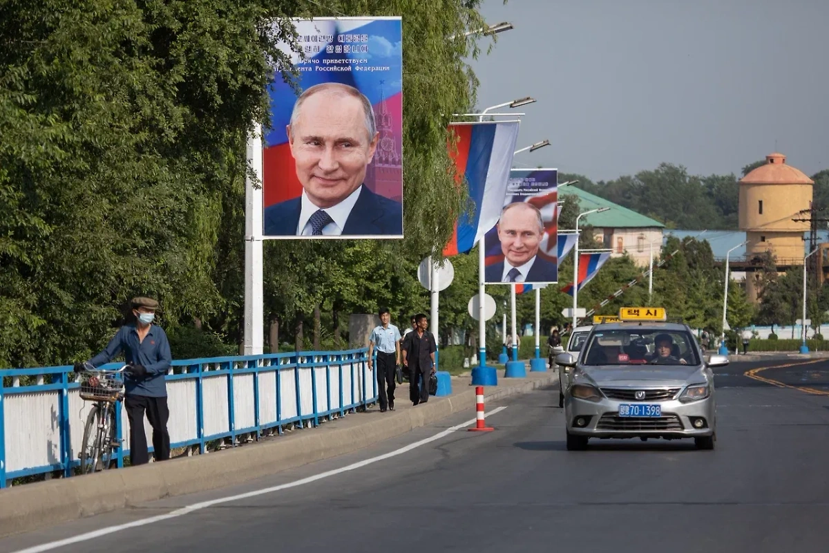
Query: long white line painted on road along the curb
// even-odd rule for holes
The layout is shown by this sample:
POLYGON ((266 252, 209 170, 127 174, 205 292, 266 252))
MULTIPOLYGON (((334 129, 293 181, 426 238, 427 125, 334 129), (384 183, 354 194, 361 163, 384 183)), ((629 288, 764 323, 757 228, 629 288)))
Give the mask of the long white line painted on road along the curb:
MULTIPOLYGON (((496 407, 495 409, 488 411, 487 415, 495 415, 496 413, 507 409, 507 405, 502 405, 501 407, 496 407)), ((298 486, 303 486, 304 484, 309 484, 312 482, 316 482, 318 480, 322 480, 322 478, 328 478, 329 476, 335 476, 337 474, 347 473, 352 470, 356 470, 357 468, 363 468, 367 465, 376 463, 378 461, 383 461, 387 458, 396 457, 398 455, 405 454, 412 449, 419 448, 421 445, 429 444, 430 442, 434 442, 437 439, 444 438, 449 434, 452 434, 454 431, 466 428, 467 426, 473 424, 475 419, 471 419, 466 421, 465 423, 458 424, 457 426, 452 426, 448 429, 445 429, 443 432, 439 432, 438 434, 434 434, 434 436, 429 436, 429 438, 421 439, 413 444, 406 445, 400 449, 395 449, 387 454, 378 455, 377 457, 367 458, 363 461, 358 461, 357 463, 351 463, 346 467, 342 468, 335 468, 333 470, 326 471, 324 473, 314 474, 313 476, 309 476, 308 478, 302 478, 300 480, 296 480, 294 482, 290 482, 287 484, 279 484, 279 486, 272 486, 270 488, 263 488, 261 490, 256 490, 255 492, 246 492, 240 493, 235 496, 228 496, 228 497, 220 497, 218 499, 211 499, 210 501, 205 501, 201 503, 193 503, 192 505, 188 505, 187 507, 182 507, 172 512, 168 512, 166 515, 158 515, 156 517, 148 517, 142 518, 138 521, 127 522, 125 524, 119 524, 116 526, 109 526, 107 528, 101 528, 99 530, 86 532, 85 534, 79 534, 78 536, 72 536, 65 538, 64 540, 58 541, 50 541, 48 543, 42 544, 41 546, 33 546, 27 547, 26 549, 21 549, 18 551, 13 551, 12 553, 40 553, 41 551, 51 551, 53 549, 57 549, 58 547, 63 546, 70 546, 75 543, 80 543, 81 541, 90 541, 98 538, 100 536, 106 536, 107 534, 114 534, 115 532, 128 530, 129 528, 136 528, 138 526, 147 526, 148 524, 153 524, 155 522, 166 521, 171 518, 183 517, 191 512, 200 511, 201 509, 206 509, 207 507, 213 507, 214 505, 220 505, 221 503, 227 503, 232 501, 238 501, 240 499, 247 499, 249 497, 257 497, 260 495, 264 495, 266 493, 272 492, 279 492, 284 489, 288 488, 296 488, 298 486)))

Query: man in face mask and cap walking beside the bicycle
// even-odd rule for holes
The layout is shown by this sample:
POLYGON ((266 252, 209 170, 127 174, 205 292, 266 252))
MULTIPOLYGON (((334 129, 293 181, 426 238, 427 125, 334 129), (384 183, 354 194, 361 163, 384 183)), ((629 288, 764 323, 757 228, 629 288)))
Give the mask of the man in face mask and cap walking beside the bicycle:
MULTIPOLYGON (((172 354, 167 334, 153 324, 158 302, 152 298, 133 298, 135 323, 119 328, 103 352, 90 359, 92 366, 104 365, 124 353, 128 367, 124 376, 124 407, 129 419, 129 457, 133 465, 149 462, 144 412, 153 427, 156 461, 170 458, 170 434, 167 433, 167 384, 164 375, 170 368, 172 354)), ((75 363, 75 372, 84 371, 75 363)))

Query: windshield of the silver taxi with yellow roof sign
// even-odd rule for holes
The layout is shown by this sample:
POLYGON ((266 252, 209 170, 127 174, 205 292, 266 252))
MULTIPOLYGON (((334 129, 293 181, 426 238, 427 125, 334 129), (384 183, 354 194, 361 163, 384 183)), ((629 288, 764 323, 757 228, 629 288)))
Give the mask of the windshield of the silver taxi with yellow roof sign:
POLYGON ((594 332, 584 365, 697 365, 694 338, 687 331, 633 327, 594 332))

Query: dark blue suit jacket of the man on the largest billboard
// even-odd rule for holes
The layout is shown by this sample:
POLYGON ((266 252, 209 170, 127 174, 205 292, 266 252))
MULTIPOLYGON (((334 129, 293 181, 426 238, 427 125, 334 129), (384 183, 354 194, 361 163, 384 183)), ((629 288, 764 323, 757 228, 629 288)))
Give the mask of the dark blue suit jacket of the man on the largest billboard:
MULTIPOLYGON (((264 210, 265 236, 293 236, 297 234, 302 198, 296 197, 266 207, 264 210)), ((403 206, 362 185, 360 196, 348 214, 342 235, 403 235, 403 206)))

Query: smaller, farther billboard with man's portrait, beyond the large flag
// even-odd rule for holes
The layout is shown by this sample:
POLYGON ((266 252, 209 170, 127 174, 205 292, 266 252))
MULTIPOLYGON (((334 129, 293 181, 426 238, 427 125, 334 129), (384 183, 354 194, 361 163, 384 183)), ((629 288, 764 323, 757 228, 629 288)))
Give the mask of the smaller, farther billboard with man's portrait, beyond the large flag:
POLYGON ((558 282, 557 195, 557 169, 511 169, 501 216, 484 236, 486 284, 558 282))

